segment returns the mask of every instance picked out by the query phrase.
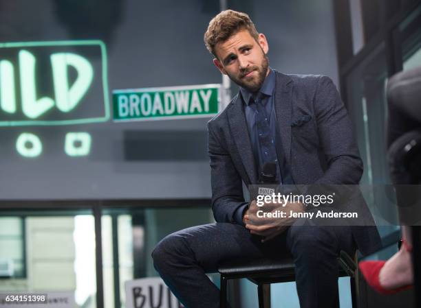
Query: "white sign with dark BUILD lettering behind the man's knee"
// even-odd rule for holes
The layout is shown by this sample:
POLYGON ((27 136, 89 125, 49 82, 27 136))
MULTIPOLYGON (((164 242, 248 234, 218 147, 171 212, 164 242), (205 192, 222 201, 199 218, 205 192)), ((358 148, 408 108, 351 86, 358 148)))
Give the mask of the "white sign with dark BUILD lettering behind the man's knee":
POLYGON ((159 277, 125 283, 126 308, 184 308, 159 277))

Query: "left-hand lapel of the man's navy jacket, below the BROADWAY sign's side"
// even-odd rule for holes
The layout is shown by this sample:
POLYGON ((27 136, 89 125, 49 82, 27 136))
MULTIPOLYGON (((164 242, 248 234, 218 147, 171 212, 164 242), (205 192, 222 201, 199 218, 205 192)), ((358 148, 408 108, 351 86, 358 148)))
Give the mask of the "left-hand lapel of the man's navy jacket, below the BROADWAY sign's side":
POLYGON ((252 145, 250 136, 248 134, 248 128, 246 123, 246 115, 244 114, 243 101, 241 95, 237 95, 237 99, 234 100, 228 106, 228 123, 230 126, 231 134, 237 145, 241 162, 246 169, 249 182, 246 184, 257 183, 257 170, 255 164, 255 158, 252 152, 252 145))

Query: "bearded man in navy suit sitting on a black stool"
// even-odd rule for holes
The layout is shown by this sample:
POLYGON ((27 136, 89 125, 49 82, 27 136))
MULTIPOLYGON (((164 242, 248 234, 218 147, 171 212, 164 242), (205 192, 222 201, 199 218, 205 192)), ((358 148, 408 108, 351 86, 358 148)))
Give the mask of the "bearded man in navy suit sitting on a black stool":
MULTIPOLYGON (((266 37, 247 14, 219 13, 204 40, 215 66, 240 86, 226 109, 208 122, 217 223, 162 239, 152 254, 155 268, 186 307, 217 308, 219 289, 206 273, 215 272, 218 263, 291 256, 301 307, 333 307, 338 253, 376 250, 376 227, 259 220, 257 202, 244 200, 243 183, 257 184, 263 165, 272 162, 279 185, 358 184, 363 164, 338 91, 325 76, 284 75, 270 69, 266 37)), ((274 204, 266 204, 266 209, 274 209, 274 204)), ((283 204, 283 209, 308 211, 300 202, 283 204)))

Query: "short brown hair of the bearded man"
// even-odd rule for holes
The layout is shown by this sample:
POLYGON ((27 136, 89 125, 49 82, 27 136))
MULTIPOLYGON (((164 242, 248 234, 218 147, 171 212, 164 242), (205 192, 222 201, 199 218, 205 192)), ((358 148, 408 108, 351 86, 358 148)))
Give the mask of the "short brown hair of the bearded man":
POLYGON ((222 11, 209 22, 208 29, 204 34, 206 48, 213 56, 217 57, 215 54, 217 43, 228 40, 230 36, 244 29, 248 30, 255 40, 259 38, 259 32, 248 14, 233 10, 222 11))

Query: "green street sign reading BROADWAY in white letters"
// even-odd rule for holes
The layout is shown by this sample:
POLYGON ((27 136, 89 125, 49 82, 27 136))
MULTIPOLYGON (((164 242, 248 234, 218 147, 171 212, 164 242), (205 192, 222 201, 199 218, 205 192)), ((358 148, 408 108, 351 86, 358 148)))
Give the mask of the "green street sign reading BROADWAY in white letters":
POLYGON ((211 117, 218 112, 220 84, 113 91, 114 121, 211 117))

